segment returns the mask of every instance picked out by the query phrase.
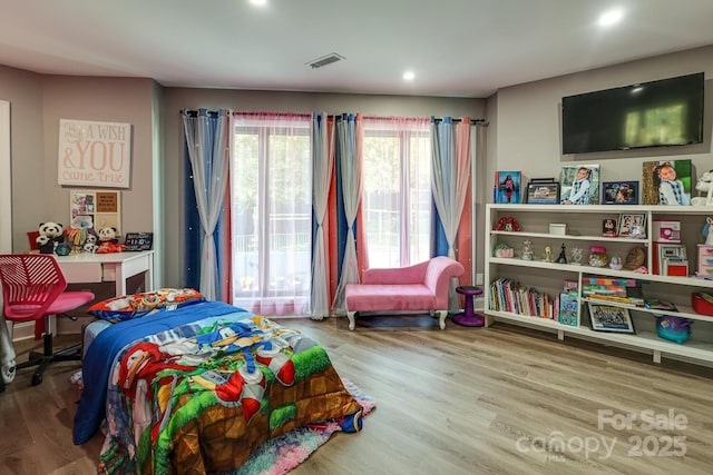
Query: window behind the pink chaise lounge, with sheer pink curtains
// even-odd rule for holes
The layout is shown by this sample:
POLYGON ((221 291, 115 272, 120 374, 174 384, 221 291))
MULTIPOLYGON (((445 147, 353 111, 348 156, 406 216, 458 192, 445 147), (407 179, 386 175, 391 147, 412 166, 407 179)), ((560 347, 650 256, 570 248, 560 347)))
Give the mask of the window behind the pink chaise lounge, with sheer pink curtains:
POLYGON ((370 267, 430 257, 429 123, 428 118, 364 118, 362 209, 370 267))

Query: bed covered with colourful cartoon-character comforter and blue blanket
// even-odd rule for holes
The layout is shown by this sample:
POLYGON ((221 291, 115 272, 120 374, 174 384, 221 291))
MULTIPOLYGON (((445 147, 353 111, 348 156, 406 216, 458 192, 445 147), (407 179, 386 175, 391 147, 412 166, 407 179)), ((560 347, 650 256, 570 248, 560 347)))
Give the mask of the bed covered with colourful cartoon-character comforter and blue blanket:
POLYGON ((361 428, 325 349, 265 317, 198 300, 99 327, 72 429, 84 444, 106 418, 99 473, 226 473, 297 427, 361 428))

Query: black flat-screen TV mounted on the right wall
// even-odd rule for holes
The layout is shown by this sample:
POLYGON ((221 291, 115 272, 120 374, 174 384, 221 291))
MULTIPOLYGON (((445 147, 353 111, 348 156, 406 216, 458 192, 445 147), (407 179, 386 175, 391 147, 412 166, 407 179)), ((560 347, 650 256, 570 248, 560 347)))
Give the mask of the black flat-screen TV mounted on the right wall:
POLYGON ((563 154, 703 141, 703 72, 561 99, 563 154))

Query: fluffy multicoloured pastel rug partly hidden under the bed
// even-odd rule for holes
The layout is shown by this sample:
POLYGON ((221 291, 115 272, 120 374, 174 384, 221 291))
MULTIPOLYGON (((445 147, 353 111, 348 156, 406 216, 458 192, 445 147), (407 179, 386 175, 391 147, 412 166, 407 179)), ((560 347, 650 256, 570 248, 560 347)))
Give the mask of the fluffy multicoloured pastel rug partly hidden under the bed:
MULTIPOLYGON (((374 407, 374 402, 363 394, 352 382, 342 378, 344 387, 362 407, 365 416, 374 407)), ((332 434, 341 431, 338 423, 306 426, 267 441, 236 471, 226 475, 283 475, 306 461, 332 434)))

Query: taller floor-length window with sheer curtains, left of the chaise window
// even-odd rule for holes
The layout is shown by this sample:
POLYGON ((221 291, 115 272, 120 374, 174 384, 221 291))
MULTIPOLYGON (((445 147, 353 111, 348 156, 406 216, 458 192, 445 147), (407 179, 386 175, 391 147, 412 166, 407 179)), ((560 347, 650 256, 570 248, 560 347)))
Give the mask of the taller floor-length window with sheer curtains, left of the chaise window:
POLYGON ((233 303, 264 315, 309 313, 310 118, 238 113, 231 168, 233 303))

